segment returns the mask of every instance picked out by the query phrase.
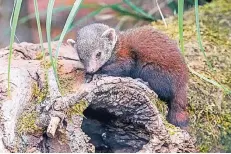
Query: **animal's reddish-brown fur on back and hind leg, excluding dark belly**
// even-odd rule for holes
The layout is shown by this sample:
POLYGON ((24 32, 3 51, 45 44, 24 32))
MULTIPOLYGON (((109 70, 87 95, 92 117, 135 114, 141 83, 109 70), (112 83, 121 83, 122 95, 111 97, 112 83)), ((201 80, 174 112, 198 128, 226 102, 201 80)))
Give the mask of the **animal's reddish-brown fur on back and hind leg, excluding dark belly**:
POLYGON ((172 77, 174 97, 169 102, 168 120, 177 126, 185 127, 182 123, 188 123, 188 69, 177 44, 153 27, 144 26, 118 35, 115 50, 118 62, 122 63, 124 59, 131 61, 135 54, 141 67, 149 64, 172 77))

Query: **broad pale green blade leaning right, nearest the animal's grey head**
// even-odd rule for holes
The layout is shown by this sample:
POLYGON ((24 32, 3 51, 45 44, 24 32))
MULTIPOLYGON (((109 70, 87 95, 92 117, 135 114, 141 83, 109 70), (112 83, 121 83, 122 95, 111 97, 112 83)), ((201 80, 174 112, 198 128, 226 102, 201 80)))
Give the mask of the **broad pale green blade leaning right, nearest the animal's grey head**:
POLYGON ((75 18, 75 15, 79 9, 79 6, 81 4, 82 0, 76 0, 72 9, 71 9, 71 12, 69 13, 69 16, 67 18, 67 21, 63 27, 63 30, 62 30, 62 33, 61 33, 61 36, 60 36, 60 39, 59 39, 59 42, 58 42, 58 46, 56 48, 56 56, 55 56, 55 64, 57 64, 57 58, 58 58, 58 54, 59 54, 59 48, 61 46, 61 43, 63 42, 63 39, 64 39, 64 36, 66 35, 67 31, 68 31, 68 28, 70 27, 73 19, 75 18))

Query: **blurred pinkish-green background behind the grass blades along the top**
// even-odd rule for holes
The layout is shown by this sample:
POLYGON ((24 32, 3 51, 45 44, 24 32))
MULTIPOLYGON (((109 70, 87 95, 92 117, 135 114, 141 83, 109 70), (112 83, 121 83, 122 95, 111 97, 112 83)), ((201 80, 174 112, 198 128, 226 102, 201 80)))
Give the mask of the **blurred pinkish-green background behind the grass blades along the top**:
MULTIPOLYGON (((199 0, 203 5, 211 0, 199 0)), ((52 17, 52 40, 57 40, 75 0, 56 0, 52 17)), ((38 0, 43 40, 46 41, 46 9, 48 0, 38 0)), ((177 0, 83 0, 69 27, 67 38, 75 38, 76 31, 90 23, 105 23, 117 30, 124 30, 160 20, 158 6, 165 18, 177 13, 177 0), (132 7, 134 6, 134 7, 132 7)), ((185 0, 185 10, 194 6, 193 0, 185 0)), ((10 19, 13 0, 0 0, 0 47, 9 45, 10 19)), ((18 21, 16 42, 39 43, 33 0, 23 0, 18 21)))

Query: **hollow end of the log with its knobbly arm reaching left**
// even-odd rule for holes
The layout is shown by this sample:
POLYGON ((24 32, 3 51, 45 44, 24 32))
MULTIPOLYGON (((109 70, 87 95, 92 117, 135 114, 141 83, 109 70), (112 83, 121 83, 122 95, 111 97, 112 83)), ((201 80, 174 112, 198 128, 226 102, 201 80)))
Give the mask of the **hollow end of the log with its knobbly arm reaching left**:
POLYGON ((186 131, 173 126, 175 135, 169 135, 167 122, 163 123, 155 106, 156 94, 139 80, 98 75, 80 89, 76 94, 57 98, 51 109, 63 113, 81 100, 86 101, 81 129, 91 138, 96 152, 195 150, 186 131))

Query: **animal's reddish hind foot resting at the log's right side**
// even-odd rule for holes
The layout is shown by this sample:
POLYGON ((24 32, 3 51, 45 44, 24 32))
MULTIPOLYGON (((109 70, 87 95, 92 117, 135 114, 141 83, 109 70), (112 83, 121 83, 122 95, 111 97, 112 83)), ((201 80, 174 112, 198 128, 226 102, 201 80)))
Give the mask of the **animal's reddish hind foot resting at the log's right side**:
POLYGON ((189 118, 188 118, 188 112, 186 111, 169 111, 167 120, 169 123, 180 127, 181 129, 187 130, 188 128, 188 123, 189 123, 189 118))

